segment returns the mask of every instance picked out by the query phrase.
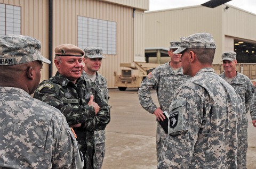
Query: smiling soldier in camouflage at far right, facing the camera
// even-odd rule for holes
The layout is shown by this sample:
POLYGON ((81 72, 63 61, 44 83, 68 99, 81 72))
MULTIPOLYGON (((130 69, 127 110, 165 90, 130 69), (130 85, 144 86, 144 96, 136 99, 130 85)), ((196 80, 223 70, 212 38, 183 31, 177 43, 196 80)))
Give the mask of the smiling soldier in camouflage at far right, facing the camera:
POLYGON ((220 74, 220 77, 226 80, 239 94, 242 99, 243 116, 241 121, 241 127, 238 134, 238 149, 237 149, 237 167, 246 168, 246 152, 248 148, 247 143, 247 128, 248 120, 246 113, 249 111, 254 88, 251 80, 245 75, 236 71, 236 53, 225 52, 222 53, 222 63, 225 72, 220 74))

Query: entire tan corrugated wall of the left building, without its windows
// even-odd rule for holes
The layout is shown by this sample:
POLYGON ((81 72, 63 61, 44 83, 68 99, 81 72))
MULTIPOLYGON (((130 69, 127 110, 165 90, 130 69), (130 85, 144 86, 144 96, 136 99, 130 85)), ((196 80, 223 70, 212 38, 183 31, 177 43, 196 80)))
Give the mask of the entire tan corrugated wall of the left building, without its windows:
MULTIPOLYGON (((143 11, 149 8, 149 0, 53 0, 52 2, 53 55, 57 45, 66 43, 77 45, 77 16, 79 15, 116 22, 116 55, 106 55, 106 60, 103 60, 99 71, 108 80, 109 88, 114 88, 114 72, 121 72, 120 63, 133 62, 135 57, 136 60, 144 60, 143 11), (134 15, 133 9, 135 9, 134 15), (134 24, 136 24, 135 27, 134 24)), ((21 6, 21 34, 42 41, 42 53, 49 58, 47 56, 49 53, 49 1, 0 0, 0 3, 21 6)), ((57 69, 54 63, 52 64, 54 75, 57 69)), ((41 81, 48 79, 48 72, 48 66, 44 65, 41 81)))

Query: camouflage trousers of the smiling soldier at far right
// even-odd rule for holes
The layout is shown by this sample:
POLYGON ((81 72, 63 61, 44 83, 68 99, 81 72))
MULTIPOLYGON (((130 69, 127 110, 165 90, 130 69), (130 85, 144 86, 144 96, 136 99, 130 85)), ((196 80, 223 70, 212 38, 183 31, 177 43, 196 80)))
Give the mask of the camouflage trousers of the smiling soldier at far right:
POLYGON ((237 145, 237 168, 246 168, 246 153, 248 148, 247 142, 247 128, 248 120, 246 114, 243 113, 240 131, 238 133, 238 145, 237 145))

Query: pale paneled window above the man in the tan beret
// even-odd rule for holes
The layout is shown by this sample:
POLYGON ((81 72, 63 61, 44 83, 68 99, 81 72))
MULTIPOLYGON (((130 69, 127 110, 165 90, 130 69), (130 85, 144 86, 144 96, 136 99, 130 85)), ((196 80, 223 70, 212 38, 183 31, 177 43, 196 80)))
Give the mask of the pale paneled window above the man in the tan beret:
POLYGON ((77 38, 82 49, 97 46, 105 54, 116 54, 116 22, 78 16, 77 38))

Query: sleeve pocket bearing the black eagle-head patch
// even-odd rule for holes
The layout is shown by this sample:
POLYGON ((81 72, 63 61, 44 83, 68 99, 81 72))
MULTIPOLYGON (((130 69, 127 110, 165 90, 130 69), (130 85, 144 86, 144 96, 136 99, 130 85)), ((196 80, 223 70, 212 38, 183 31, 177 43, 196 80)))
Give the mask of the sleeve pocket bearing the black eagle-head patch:
POLYGON ((183 114, 186 113, 186 98, 180 98, 172 102, 169 107, 169 134, 181 134, 188 130, 186 122, 183 119, 183 114))

